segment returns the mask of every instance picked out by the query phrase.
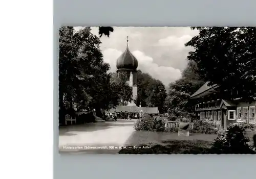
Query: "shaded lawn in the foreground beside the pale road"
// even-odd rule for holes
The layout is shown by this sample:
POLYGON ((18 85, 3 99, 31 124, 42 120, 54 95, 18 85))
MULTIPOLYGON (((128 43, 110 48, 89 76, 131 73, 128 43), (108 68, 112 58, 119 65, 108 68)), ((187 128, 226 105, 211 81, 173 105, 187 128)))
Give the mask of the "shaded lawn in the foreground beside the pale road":
POLYGON ((125 142, 126 149, 121 149, 119 154, 209 154, 216 137, 209 134, 180 137, 178 133, 136 131, 125 142))

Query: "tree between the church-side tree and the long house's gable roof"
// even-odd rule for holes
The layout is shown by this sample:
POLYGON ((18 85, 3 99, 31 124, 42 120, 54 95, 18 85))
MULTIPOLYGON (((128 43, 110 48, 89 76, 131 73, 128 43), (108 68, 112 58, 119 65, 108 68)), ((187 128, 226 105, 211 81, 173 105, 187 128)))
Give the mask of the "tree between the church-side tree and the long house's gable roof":
POLYGON ((194 101, 189 100, 189 97, 205 83, 200 79, 197 70, 196 62, 189 61, 182 72, 182 78, 169 84, 168 95, 165 100, 168 112, 178 116, 181 112, 193 111, 195 104, 194 101))

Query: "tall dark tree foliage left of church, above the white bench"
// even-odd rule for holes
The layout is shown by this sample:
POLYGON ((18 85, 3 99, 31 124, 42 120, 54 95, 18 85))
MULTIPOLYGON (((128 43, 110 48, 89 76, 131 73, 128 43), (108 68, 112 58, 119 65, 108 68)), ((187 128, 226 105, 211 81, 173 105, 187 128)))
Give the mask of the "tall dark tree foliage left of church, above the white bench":
POLYGON ((109 109, 118 105, 116 84, 111 83, 110 65, 103 62, 100 40, 90 28, 75 32, 72 27, 59 30, 59 106, 77 105, 109 109))

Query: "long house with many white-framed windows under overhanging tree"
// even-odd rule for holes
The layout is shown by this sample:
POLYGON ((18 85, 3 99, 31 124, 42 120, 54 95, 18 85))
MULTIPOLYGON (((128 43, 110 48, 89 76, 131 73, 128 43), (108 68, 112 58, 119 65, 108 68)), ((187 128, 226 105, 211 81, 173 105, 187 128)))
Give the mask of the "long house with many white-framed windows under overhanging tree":
POLYGON ((215 121, 223 129, 232 123, 256 123, 256 98, 251 103, 241 98, 224 99, 219 94, 219 85, 209 85, 206 82, 190 99, 197 100, 195 111, 200 119, 215 121))

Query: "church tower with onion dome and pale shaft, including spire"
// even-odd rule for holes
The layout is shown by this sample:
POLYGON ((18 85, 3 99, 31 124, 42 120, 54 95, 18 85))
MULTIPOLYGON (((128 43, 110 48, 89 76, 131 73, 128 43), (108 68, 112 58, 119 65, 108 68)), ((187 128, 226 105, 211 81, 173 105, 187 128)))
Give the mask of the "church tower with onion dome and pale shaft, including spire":
POLYGON ((133 56, 128 47, 128 36, 127 36, 127 46, 124 53, 117 59, 116 68, 117 74, 124 73, 126 75, 127 83, 133 88, 133 100, 128 102, 128 106, 136 106, 135 99, 137 97, 137 67, 138 60, 133 56))

